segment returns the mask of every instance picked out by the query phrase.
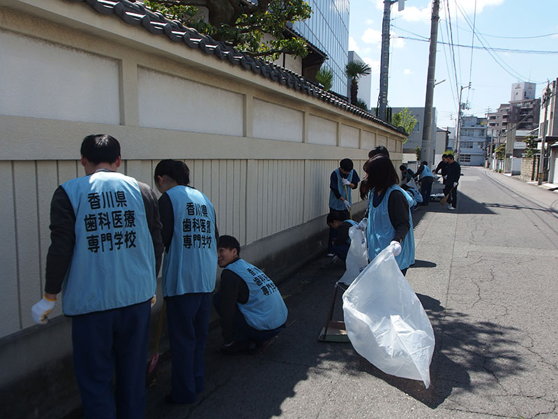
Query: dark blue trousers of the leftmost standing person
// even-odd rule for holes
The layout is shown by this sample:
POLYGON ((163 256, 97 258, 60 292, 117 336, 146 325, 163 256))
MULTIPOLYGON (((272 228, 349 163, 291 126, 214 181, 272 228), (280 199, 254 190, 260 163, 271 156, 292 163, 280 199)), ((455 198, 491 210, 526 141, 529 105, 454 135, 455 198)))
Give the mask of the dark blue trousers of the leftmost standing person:
POLYGON ((72 318, 74 369, 85 418, 144 418, 150 316, 146 301, 72 318))

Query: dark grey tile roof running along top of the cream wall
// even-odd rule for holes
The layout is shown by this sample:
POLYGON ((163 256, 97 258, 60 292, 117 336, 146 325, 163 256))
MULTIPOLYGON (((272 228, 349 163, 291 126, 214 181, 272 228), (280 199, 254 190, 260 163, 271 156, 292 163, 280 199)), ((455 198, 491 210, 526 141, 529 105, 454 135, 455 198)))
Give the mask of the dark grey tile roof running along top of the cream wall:
POLYGON ((369 119, 377 124, 386 126, 398 133, 404 133, 402 128, 395 127, 375 115, 365 112, 351 103, 335 96, 335 94, 325 91, 312 84, 310 80, 303 76, 289 71, 286 68, 250 57, 250 55, 226 45, 221 41, 215 41, 210 36, 199 34, 192 28, 185 27, 181 22, 169 20, 158 12, 153 12, 144 7, 142 3, 128 0, 71 0, 75 2, 87 3, 98 13, 103 15, 116 15, 123 22, 133 26, 142 26, 146 31, 153 35, 164 35, 176 43, 184 43, 190 48, 201 50, 205 54, 211 54, 218 59, 227 60, 229 63, 241 66, 246 71, 262 75, 273 82, 278 82, 289 89, 295 89, 314 96, 320 100, 330 103, 337 108, 347 110, 364 119, 369 119))

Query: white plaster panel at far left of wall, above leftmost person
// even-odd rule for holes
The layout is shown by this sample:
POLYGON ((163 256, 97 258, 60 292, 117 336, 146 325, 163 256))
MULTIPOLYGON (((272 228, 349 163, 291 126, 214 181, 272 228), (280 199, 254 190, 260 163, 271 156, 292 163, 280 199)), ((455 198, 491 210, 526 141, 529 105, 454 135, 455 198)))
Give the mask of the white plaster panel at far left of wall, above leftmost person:
POLYGON ((0 114, 119 124, 118 63, 0 31, 0 114))

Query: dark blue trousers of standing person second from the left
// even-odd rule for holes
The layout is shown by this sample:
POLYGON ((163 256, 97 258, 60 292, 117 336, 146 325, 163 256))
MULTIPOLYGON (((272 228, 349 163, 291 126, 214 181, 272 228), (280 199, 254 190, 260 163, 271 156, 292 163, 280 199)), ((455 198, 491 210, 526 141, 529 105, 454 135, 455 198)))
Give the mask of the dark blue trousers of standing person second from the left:
POLYGON ((176 295, 166 300, 172 355, 170 395, 173 402, 193 403, 196 394, 204 390, 211 293, 176 295))

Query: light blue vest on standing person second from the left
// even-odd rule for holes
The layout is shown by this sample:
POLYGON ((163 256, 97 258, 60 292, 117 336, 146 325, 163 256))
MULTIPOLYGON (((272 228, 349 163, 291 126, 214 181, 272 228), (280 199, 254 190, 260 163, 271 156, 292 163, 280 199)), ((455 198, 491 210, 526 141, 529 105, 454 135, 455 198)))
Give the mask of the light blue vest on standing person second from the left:
POLYGON ((163 260, 163 296, 211 293, 217 274, 213 204, 189 186, 174 186, 167 195, 174 212, 174 231, 163 260))

